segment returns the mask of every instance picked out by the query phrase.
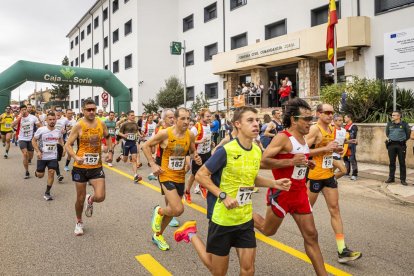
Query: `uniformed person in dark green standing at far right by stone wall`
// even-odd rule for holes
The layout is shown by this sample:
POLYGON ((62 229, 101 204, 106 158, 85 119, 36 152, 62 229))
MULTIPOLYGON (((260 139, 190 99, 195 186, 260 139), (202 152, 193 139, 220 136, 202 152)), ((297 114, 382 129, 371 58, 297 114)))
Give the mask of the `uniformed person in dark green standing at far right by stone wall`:
POLYGON ((405 155, 407 152, 407 140, 410 139, 410 127, 407 122, 401 120, 401 112, 394 111, 391 115, 391 122, 387 123, 385 128, 387 135, 386 146, 388 157, 390 159, 390 173, 385 183, 395 182, 396 158, 400 164, 400 180, 401 184, 406 186, 406 167, 405 155))

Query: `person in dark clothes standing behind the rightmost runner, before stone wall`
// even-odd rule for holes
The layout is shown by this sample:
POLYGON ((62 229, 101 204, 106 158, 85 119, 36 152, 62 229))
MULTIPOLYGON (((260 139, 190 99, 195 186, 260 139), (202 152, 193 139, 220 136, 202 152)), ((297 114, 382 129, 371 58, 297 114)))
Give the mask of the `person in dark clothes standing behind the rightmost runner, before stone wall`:
MULTIPOLYGON (((345 119, 345 129, 349 133, 349 139, 356 139, 358 135, 358 127, 352 120, 352 115, 347 114, 345 119)), ((344 156, 347 175, 351 175, 351 180, 357 180, 358 177, 358 163, 356 160, 356 146, 357 144, 349 144, 348 151, 344 156)))

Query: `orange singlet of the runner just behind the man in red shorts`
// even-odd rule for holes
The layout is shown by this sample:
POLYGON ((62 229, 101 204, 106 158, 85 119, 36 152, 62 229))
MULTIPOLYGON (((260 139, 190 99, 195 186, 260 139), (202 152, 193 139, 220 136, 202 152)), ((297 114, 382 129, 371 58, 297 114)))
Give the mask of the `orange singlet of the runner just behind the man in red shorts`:
MULTIPOLYGON (((322 133, 322 141, 315 145, 315 149, 325 147, 332 142, 335 137, 335 132, 332 126, 328 126, 331 133, 326 132, 319 124, 316 124, 322 133)), ((309 170, 308 178, 312 180, 328 179, 334 176, 333 173, 333 155, 330 153, 313 156, 315 168, 309 170)))

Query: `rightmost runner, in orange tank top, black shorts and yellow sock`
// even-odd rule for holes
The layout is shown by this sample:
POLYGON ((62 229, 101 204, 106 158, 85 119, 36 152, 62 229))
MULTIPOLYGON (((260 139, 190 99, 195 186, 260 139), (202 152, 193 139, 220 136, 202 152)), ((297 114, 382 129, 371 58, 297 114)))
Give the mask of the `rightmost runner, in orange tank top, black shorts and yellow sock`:
POLYGON ((336 235, 338 247, 338 262, 346 263, 359 259, 361 252, 352 251, 346 247, 341 213, 339 211, 338 183, 333 173, 333 152, 342 153, 343 148, 334 141, 334 130, 331 126, 334 110, 329 104, 320 104, 316 109, 318 123, 310 128, 306 136, 309 146, 315 146, 310 155, 316 164, 315 169, 309 171, 308 196, 313 206, 322 191, 328 210, 331 215, 332 228, 336 235))

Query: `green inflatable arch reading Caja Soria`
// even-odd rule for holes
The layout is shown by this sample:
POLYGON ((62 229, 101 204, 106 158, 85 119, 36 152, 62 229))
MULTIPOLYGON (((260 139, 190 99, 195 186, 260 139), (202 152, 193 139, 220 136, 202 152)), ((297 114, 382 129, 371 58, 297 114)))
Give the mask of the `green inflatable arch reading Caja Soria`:
POLYGON ((111 71, 20 60, 0 73, 0 113, 11 91, 26 81, 102 87, 114 98, 115 112, 131 109, 128 88, 111 71))

